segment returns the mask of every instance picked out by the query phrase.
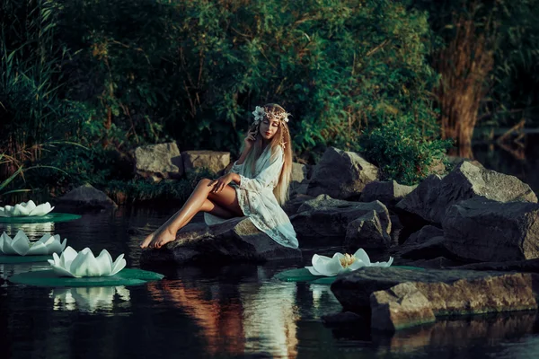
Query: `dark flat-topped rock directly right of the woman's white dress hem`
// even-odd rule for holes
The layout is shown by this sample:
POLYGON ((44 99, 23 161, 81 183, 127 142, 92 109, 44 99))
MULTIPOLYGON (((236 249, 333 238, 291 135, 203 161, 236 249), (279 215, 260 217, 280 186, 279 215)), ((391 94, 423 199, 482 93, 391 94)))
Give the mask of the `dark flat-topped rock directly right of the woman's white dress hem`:
POLYGON ((385 233, 391 232, 387 208, 379 201, 362 203, 320 195, 305 201, 290 217, 299 238, 318 239, 327 244, 342 243, 348 224, 362 215, 376 212, 385 233))

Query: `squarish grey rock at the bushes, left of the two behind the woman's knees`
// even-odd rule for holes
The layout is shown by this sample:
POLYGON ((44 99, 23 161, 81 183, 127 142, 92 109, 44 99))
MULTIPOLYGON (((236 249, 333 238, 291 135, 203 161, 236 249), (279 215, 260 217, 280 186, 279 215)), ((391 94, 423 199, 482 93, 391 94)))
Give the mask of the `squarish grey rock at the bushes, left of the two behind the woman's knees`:
POLYGON ((135 170, 139 176, 155 181, 178 179, 183 174, 180 150, 174 143, 137 147, 135 170))

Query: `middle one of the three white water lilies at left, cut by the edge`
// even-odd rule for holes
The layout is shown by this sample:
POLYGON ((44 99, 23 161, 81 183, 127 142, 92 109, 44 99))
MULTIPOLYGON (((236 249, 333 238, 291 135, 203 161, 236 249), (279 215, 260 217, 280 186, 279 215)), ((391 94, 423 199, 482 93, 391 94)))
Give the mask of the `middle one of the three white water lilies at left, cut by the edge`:
POLYGON ((31 242, 26 233, 19 231, 13 240, 5 232, 0 236, 0 253, 8 256, 47 256, 61 253, 67 240, 60 243, 59 234, 45 234, 40 241, 31 242))

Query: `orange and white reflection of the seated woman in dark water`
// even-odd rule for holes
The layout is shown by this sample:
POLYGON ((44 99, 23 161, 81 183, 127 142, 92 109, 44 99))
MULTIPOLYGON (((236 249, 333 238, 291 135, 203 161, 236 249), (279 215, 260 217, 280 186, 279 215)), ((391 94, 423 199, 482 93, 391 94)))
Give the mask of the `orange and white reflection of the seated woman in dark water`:
POLYGON ((148 290, 155 302, 166 307, 173 305, 197 323, 208 355, 265 353, 295 358, 299 320, 296 285, 261 283, 260 278, 272 276, 261 267, 229 269, 233 273, 225 269, 225 273, 219 274, 228 276, 228 281, 217 282, 215 277, 207 281, 204 274, 187 274, 199 272, 190 268, 181 273, 182 279, 152 282, 148 290), (240 285, 238 277, 243 277, 240 285))

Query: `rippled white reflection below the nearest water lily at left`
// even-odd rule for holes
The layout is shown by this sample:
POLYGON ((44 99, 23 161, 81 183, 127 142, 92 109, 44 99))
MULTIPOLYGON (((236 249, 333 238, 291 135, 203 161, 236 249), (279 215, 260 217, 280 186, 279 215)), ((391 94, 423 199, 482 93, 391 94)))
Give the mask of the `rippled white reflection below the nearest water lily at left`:
POLYGON ((93 286, 55 288, 49 293, 54 311, 107 312, 111 315, 115 297, 120 302, 129 302, 130 293, 125 286, 93 286))

